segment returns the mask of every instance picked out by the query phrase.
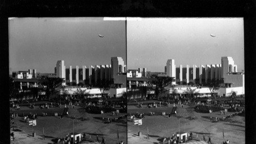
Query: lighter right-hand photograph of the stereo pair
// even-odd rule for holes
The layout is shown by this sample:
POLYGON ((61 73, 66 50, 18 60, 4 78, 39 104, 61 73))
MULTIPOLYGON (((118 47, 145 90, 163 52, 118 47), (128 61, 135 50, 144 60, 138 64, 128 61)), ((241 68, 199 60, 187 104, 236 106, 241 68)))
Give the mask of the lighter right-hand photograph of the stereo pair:
POLYGON ((127 18, 127 143, 245 143, 244 19, 127 18))

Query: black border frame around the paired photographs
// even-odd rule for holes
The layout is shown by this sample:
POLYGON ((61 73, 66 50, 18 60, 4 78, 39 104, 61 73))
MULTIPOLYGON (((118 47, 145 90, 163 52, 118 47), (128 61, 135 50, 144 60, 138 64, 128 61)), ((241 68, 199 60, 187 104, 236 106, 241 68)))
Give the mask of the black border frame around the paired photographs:
MULTIPOLYGON (((242 0, 11 0, 0 2, 2 116, 0 143, 10 143, 8 17, 243 17, 246 93, 246 143, 256 143, 255 1, 242 0)), ((127 55, 126 55, 127 57, 127 55)), ((126 58, 126 65, 129 64, 126 58)), ((127 143, 127 141, 126 141, 127 143)))

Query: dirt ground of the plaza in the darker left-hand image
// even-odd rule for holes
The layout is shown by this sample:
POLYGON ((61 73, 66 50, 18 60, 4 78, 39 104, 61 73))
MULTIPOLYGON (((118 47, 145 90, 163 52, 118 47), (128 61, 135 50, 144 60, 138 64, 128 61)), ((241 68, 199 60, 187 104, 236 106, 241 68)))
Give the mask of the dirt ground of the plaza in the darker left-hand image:
MULTIPOLYGON (((76 118, 81 118, 82 114, 78 111, 79 106, 74 109, 70 108, 69 116, 75 116, 76 118)), ((20 107, 21 110, 28 109, 27 107, 20 107)), ((51 110, 53 110, 52 108, 51 110)), ((125 113, 119 113, 118 116, 125 113)), ((126 141, 126 119, 122 119, 121 122, 112 122, 111 124, 106 124, 102 122, 102 117, 105 119, 115 118, 112 113, 104 114, 90 114, 84 113, 84 117, 89 117, 89 120, 81 121, 80 119, 74 120, 74 132, 86 133, 86 136, 91 135, 91 139, 96 139, 98 135, 99 140, 104 137, 105 143, 115 143, 117 142, 117 129, 119 133, 119 140, 126 141)), ((73 132, 73 120, 69 117, 38 117, 36 120, 36 126, 29 126, 28 123, 24 122, 24 118, 18 117, 14 118, 14 125, 11 125, 11 132, 13 132, 14 127, 14 137, 15 139, 11 141, 12 143, 53 143, 56 138, 62 138, 73 132), (19 130, 17 131, 18 127, 19 130), (44 128, 45 140, 42 140, 42 129, 44 128), (32 137, 33 130, 36 133, 36 137, 32 137)))

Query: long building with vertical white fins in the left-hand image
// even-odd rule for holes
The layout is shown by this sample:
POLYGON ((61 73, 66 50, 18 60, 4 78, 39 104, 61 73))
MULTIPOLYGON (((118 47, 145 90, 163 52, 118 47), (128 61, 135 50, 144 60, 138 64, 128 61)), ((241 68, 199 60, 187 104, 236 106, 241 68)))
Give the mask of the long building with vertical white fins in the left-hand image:
POLYGON ((126 65, 122 57, 111 57, 111 65, 69 66, 64 61, 57 61, 56 76, 63 78, 63 85, 89 84, 95 85, 100 80, 109 80, 113 84, 123 84, 126 87, 126 65))

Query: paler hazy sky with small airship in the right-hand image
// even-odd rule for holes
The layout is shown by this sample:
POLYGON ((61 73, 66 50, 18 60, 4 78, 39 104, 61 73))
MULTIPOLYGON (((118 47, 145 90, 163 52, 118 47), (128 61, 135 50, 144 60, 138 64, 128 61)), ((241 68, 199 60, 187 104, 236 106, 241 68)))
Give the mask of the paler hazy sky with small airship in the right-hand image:
POLYGON ((127 69, 164 72, 180 65, 221 64, 231 56, 244 69, 243 18, 142 18, 127 21, 127 69), (211 37, 210 34, 216 37, 211 37))

